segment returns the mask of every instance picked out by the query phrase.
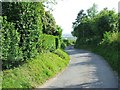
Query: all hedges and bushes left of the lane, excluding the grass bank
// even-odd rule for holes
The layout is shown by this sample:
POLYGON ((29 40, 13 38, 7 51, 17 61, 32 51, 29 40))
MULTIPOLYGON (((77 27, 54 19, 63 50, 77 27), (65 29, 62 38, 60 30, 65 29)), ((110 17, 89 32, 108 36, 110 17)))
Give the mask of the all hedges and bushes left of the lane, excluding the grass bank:
POLYGON ((19 66, 43 51, 60 47, 62 30, 52 14, 45 11, 42 2, 2 2, 2 17, 0 55, 4 69, 19 66), (2 20, 4 16, 7 18, 2 20), (54 36, 43 35, 44 30, 54 36))

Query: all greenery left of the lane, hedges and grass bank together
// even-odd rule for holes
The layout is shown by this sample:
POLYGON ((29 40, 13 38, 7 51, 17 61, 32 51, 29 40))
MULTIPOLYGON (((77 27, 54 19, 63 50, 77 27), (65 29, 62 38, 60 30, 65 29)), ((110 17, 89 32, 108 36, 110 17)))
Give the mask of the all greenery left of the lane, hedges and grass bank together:
POLYGON ((67 66, 62 28, 44 3, 51 2, 2 2, 1 88, 35 88, 67 66))

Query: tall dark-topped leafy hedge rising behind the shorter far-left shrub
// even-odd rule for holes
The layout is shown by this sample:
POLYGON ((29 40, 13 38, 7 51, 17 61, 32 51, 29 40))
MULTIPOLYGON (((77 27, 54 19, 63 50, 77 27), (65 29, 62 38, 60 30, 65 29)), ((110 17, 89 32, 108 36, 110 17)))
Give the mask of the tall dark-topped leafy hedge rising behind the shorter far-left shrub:
POLYGON ((20 34, 19 46, 23 58, 29 59, 37 55, 36 45, 42 33, 42 16, 44 7, 40 2, 2 2, 2 14, 8 22, 15 23, 20 34))

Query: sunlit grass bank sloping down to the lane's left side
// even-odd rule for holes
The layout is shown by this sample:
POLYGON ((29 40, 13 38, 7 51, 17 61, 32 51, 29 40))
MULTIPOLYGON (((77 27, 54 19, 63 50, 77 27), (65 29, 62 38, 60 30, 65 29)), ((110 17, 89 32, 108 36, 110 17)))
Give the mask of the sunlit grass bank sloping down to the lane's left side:
POLYGON ((60 49, 40 54, 22 66, 4 70, 2 88, 35 88, 64 69, 69 60, 60 49))

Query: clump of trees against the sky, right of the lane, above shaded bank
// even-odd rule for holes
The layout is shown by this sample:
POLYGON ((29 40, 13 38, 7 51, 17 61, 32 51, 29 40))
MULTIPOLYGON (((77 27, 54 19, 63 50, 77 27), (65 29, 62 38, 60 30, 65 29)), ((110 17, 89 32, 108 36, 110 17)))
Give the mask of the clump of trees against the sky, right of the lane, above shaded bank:
POLYGON ((102 40, 105 32, 118 31, 118 14, 114 10, 104 8, 99 13, 97 5, 93 4, 85 13, 81 10, 73 22, 72 35, 77 37, 76 43, 94 42, 102 40))

